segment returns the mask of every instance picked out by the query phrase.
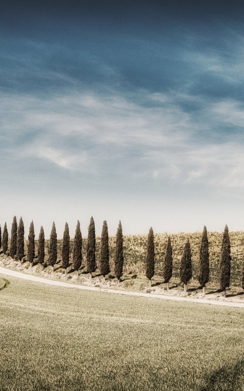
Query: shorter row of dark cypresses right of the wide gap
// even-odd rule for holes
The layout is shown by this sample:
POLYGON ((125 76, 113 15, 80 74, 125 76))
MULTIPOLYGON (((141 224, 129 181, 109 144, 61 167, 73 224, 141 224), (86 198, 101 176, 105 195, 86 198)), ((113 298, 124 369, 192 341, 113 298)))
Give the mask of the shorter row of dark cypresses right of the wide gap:
MULTIPOLYGON (((148 239, 147 239, 147 253, 146 253, 146 277, 149 279, 151 286, 151 279, 154 276, 154 263, 155 263, 155 253, 154 253, 154 236, 153 229, 150 228, 148 239)), ((227 287, 230 286, 230 240, 228 227, 225 225, 224 234, 222 239, 221 246, 221 257, 219 262, 219 281, 220 288, 224 292, 227 287)), ((168 237, 166 252, 164 257, 164 267, 163 267, 163 278, 164 282, 167 283, 167 289, 169 289, 168 282, 172 277, 172 268, 173 268, 173 257, 172 257, 172 246, 170 237, 168 237)), ((192 263, 191 263, 191 246, 189 239, 186 240, 183 255, 181 259, 180 266, 180 279, 184 284, 184 291, 187 291, 187 283, 192 278, 192 263)), ((205 285, 209 281, 209 252, 208 252, 208 237, 207 229, 204 226, 203 235, 200 248, 199 256, 199 273, 198 281, 203 287, 203 295, 205 294, 205 285)), ((244 263, 242 271, 242 288, 244 289, 244 263)))

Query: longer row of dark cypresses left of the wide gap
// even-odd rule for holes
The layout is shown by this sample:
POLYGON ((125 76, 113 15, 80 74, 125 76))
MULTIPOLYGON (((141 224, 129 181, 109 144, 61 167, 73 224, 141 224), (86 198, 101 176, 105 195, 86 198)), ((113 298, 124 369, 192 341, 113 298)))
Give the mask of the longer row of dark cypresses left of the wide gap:
MULTIPOLYGON (((54 270, 54 265, 57 262, 57 232, 55 222, 52 224, 52 230, 50 234, 49 241, 49 265, 52 266, 54 270)), ((1 228, 0 228, 0 247, 2 245, 2 252, 8 254, 8 231, 6 222, 3 229, 3 237, 1 243, 1 228)), ((74 238, 74 248, 73 248, 73 267, 77 271, 81 267, 82 263, 82 235, 81 235, 81 226, 80 221, 78 220, 74 238)), ((90 219, 90 224, 88 227, 88 240, 87 240, 87 253, 86 253, 86 268, 87 271, 91 274, 96 270, 96 266, 99 267, 100 272, 105 280, 105 276, 110 272, 109 268, 109 246, 108 246, 108 227, 106 220, 103 221, 102 226, 102 237, 101 237, 101 246, 100 246, 100 257, 99 263, 96 265, 96 234, 95 234, 95 223, 93 217, 90 219)), ((24 225, 22 217, 20 217, 19 226, 17 227, 16 216, 13 218, 12 229, 11 229, 11 241, 9 255, 13 259, 22 260, 24 257, 24 225)), ((44 263, 45 257, 45 237, 44 230, 41 226, 39 240, 38 240, 38 263, 41 265, 44 263)), ((33 265, 35 259, 35 232, 33 221, 30 224, 29 235, 28 235, 28 251, 27 251, 27 260, 33 265)), ((62 267, 65 270, 65 275, 67 273, 67 267, 69 266, 70 260, 70 236, 69 236, 69 226, 67 222, 65 223, 64 232, 63 232, 63 241, 62 241, 62 267)), ((116 250, 115 250, 115 276, 118 281, 122 277, 123 270, 123 235, 122 235, 122 224, 119 222, 117 235, 116 235, 116 250)))

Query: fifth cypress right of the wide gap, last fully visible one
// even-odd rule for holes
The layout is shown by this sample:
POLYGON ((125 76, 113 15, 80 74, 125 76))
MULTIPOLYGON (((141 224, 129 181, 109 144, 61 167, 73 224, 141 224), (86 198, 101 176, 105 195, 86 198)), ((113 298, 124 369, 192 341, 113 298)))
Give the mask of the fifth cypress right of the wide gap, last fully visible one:
POLYGON ((230 241, 229 241, 229 230, 227 225, 224 227, 224 234, 222 239, 221 246, 221 257, 219 263, 219 278, 220 278, 220 287, 223 290, 225 297, 225 290, 230 285, 230 241))

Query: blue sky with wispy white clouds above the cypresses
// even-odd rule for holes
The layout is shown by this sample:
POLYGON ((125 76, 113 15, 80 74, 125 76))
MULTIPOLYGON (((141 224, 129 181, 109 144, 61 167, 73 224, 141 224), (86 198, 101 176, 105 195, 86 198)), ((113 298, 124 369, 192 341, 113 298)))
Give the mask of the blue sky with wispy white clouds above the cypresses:
POLYGON ((1 218, 244 230, 242 1, 0 6, 1 218))

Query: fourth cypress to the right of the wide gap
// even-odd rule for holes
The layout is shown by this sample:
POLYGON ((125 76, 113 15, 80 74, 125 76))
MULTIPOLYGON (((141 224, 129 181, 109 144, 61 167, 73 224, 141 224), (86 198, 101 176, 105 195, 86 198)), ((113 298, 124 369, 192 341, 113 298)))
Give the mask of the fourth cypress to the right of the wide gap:
POLYGON ((200 259, 199 259, 199 273, 198 281, 203 287, 203 296, 205 295, 205 285, 209 280, 209 253, 208 253, 208 238, 207 229, 204 225, 202 242, 200 248, 200 259))

